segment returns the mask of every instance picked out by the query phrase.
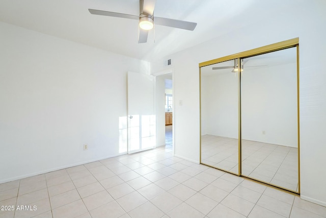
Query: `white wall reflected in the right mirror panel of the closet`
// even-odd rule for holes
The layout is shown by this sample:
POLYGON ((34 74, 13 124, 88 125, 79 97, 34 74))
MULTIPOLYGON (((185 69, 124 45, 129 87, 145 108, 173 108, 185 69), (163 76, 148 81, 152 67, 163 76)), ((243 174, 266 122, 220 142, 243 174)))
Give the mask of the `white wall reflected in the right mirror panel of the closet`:
POLYGON ((296 63, 243 71, 242 139, 297 148, 296 73, 296 63))

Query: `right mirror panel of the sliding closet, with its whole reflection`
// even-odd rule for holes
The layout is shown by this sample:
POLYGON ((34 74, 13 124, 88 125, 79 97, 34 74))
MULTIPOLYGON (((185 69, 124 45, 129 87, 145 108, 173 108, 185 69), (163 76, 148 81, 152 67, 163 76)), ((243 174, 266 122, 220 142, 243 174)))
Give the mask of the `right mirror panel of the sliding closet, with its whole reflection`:
POLYGON ((241 63, 241 175, 298 192, 296 47, 241 63))

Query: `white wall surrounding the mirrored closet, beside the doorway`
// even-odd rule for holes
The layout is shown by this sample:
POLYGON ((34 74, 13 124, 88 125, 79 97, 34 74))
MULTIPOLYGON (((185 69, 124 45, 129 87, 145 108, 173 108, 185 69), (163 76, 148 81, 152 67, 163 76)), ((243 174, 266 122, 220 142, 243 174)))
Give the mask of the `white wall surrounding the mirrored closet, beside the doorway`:
MULTIPOLYGON (((169 56, 174 63, 175 155, 199 162, 199 63, 300 37, 301 198, 326 206, 326 74, 320 70, 326 59, 326 2, 297 1, 278 10, 270 19, 257 18, 254 25, 169 56)), ((151 67, 164 70, 162 64, 151 67)))

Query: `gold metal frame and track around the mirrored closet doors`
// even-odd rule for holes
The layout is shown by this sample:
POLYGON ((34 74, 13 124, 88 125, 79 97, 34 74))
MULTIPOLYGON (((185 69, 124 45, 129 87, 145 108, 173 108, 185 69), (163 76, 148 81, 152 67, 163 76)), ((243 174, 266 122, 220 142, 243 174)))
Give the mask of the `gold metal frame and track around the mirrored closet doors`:
MULTIPOLYGON (((222 58, 217 58, 217 59, 213 59, 213 60, 210 60, 210 61, 205 61, 205 62, 202 62, 202 63, 199 63, 199 81, 200 81, 200 84, 199 84, 199 89, 200 89, 200 92, 201 92, 201 67, 204 67, 204 66, 209 66, 209 65, 212 65, 212 64, 216 64, 216 63, 220 63, 220 62, 224 62, 224 61, 229 61, 229 60, 233 60, 233 59, 237 59, 238 63, 240 63, 240 59, 241 58, 248 58, 248 57, 252 57, 252 56, 256 56, 256 55, 261 55, 261 54, 266 54, 266 53, 270 53, 270 52, 276 52, 276 51, 279 51, 279 50, 284 50, 284 49, 289 49, 290 47, 296 47, 296 81, 297 81, 297 84, 296 84, 296 93, 297 93, 297 163, 298 163, 298 191, 294 191, 294 190, 289 190, 287 188, 284 188, 284 187, 281 187, 281 186, 277 186, 277 185, 273 185, 273 184, 270 184, 270 183, 266 183, 266 182, 263 182, 263 181, 260 181, 260 180, 256 180, 256 179, 253 179, 253 178, 250 178, 250 177, 247 177, 247 176, 243 176, 241 174, 241 90, 240 90, 240 80, 241 80, 241 77, 240 77, 240 73, 238 74, 238 166, 239 166, 239 169, 238 169, 238 174, 234 174, 232 172, 228 172, 228 171, 225 171, 223 169, 220 169, 224 172, 227 172, 227 173, 230 173, 230 174, 234 174, 234 175, 237 175, 237 176, 240 176, 240 177, 244 177, 244 178, 248 178, 250 180, 253 180, 253 181, 256 181, 256 182, 259 182, 259 183, 263 183, 265 185, 268 185, 268 186, 271 186, 271 187, 275 187, 275 188, 279 188, 281 190, 284 190, 284 191, 287 191, 287 192, 290 192, 290 193, 294 193, 296 195, 300 195, 300 109, 299 109, 299 106, 300 106, 300 94, 299 94, 299 83, 300 83, 300 80, 299 80, 299 38, 293 38, 293 39, 289 39, 289 40, 286 40, 286 41, 281 41, 281 42, 277 42, 277 43, 274 43, 274 44, 269 44, 269 45, 265 45, 265 46, 262 46, 262 47, 258 47, 256 49, 252 49, 252 50, 248 50, 248 51, 245 51, 245 52, 240 52, 240 53, 237 53, 237 54, 233 54, 233 55, 229 55, 229 56, 225 56, 225 57, 222 57, 222 58)), ((240 64, 238 64, 238 72, 241 72, 240 71, 240 64)), ((200 93, 200 136, 201 136, 201 93, 200 93)), ((202 157, 201 157, 201 137, 200 137, 200 163, 202 163, 202 157)), ((202 164, 205 164, 205 163, 202 163, 202 164)), ((205 164, 207 165, 207 164, 205 164)), ((210 165, 209 165, 210 166, 210 165)), ((211 167, 214 167, 214 166, 211 166, 211 167)), ((214 167, 216 168, 216 167, 214 167)))

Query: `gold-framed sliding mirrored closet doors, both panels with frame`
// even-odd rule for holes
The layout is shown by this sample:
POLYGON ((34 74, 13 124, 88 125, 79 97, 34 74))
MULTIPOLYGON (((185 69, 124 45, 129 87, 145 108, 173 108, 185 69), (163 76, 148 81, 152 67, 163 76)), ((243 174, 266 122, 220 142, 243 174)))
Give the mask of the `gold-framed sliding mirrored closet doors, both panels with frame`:
POLYGON ((201 163, 300 193, 298 38, 200 63, 201 163))

